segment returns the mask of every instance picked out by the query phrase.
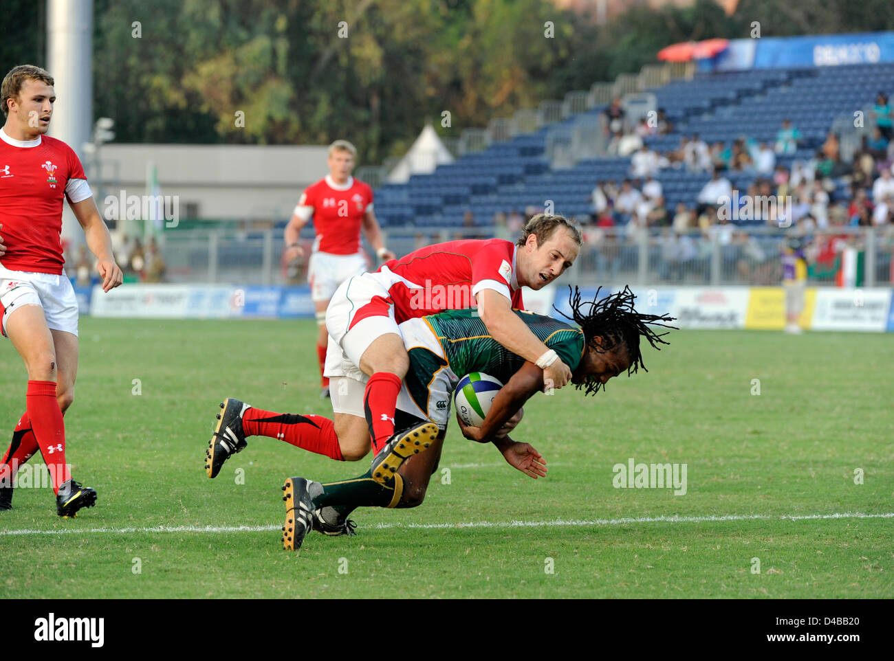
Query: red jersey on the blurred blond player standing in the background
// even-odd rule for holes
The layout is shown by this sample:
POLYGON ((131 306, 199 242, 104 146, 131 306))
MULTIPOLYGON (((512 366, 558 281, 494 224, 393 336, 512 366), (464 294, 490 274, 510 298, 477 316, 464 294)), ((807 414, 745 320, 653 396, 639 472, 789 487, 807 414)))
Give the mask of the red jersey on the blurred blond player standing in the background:
POLYGON ((373 205, 373 189, 367 184, 349 177, 344 186, 336 186, 326 175, 305 188, 298 205, 312 209, 315 252, 332 255, 360 252, 360 223, 373 205))

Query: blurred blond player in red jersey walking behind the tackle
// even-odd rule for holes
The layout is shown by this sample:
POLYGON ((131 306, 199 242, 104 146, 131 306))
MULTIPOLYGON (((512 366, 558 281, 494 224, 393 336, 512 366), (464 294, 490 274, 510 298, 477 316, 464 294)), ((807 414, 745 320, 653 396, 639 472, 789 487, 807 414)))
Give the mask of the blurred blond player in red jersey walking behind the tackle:
POLYGON ((351 176, 356 158, 357 149, 350 142, 335 140, 329 146, 329 174, 305 189, 285 228, 285 257, 292 262, 303 254, 299 244, 301 228, 311 218, 314 220, 316 238, 308 264, 308 283, 316 308, 321 397, 329 396, 329 380, 323 376, 328 344, 326 307, 342 282, 369 267, 367 255, 360 247, 361 227, 376 257, 394 259, 394 254, 384 247, 382 229, 375 220, 373 189, 351 176))

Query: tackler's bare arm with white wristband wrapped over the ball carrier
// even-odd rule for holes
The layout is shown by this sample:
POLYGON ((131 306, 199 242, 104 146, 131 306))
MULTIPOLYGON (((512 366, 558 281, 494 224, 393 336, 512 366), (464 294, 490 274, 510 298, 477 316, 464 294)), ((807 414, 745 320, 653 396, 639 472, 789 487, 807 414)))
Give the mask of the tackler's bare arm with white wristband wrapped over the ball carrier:
MULTIPOLYGON (((527 327, 519 315, 512 312, 512 304, 495 289, 482 289, 477 294, 478 315, 493 339, 508 348, 516 356, 521 356, 536 364, 544 356, 550 355, 550 348, 527 327)), ((544 382, 559 389, 571 380, 571 370, 561 358, 555 356, 546 360, 552 363, 544 367, 544 382)))

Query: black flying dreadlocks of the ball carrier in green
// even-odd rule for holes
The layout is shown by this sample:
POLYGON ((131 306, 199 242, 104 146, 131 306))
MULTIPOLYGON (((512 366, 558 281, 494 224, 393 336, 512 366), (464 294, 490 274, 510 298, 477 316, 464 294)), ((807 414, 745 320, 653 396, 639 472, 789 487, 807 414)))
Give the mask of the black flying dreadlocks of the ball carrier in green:
MULTIPOLYGON (((583 301, 580 297, 580 289, 575 287, 571 290, 569 285, 569 307, 571 308, 571 316, 561 312, 559 308, 553 305, 553 309, 561 314, 569 321, 575 322, 584 331, 584 339, 586 344, 594 351, 604 354, 617 347, 626 347, 628 357, 630 358, 630 366, 627 373, 636 373, 637 369, 642 367, 645 372, 645 363, 643 355, 639 350, 639 338, 645 337, 649 340, 655 349, 661 351, 658 345, 670 345, 662 339, 667 332, 656 333, 649 328, 648 324, 661 326, 662 328, 673 329, 678 331, 676 326, 668 323, 673 322, 675 317, 667 314, 641 314, 633 306, 636 299, 633 292, 628 286, 624 289, 611 294, 603 299, 599 299, 599 292, 602 289, 596 289, 596 295, 592 301, 583 301)), ((575 386, 577 389, 585 389, 585 395, 595 395, 600 389, 605 389, 605 385, 601 381, 591 381, 587 379, 583 383, 575 386)))

